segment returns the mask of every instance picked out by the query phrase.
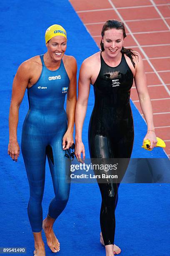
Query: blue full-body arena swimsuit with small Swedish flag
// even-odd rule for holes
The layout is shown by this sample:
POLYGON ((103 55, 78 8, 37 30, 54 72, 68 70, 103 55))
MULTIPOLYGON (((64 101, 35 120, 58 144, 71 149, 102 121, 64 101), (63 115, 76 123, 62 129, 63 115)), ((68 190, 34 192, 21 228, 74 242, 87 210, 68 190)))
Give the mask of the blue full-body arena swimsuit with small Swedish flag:
POLYGON ((65 157, 62 138, 67 131, 64 110, 65 95, 70 84, 61 60, 60 67, 51 71, 42 61, 38 81, 28 89, 29 110, 23 123, 21 149, 30 186, 28 217, 33 232, 42 229, 42 197, 45 184, 46 156, 50 166, 55 197, 48 215, 56 219, 64 210, 70 193, 70 159, 65 157))

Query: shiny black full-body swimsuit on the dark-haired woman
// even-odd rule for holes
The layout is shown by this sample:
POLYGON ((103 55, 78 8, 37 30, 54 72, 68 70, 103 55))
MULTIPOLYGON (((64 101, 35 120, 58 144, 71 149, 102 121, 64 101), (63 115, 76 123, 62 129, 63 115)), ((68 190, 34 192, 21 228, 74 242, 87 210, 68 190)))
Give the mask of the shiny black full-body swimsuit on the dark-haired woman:
MULTIPOLYGON (((129 159, 134 140, 133 115, 130 108, 133 73, 124 54, 117 67, 108 66, 102 54, 100 59, 100 73, 93 85, 95 105, 88 131, 90 158, 129 159)), ((98 185, 102 196, 100 226, 106 246, 114 244, 115 207, 119 184, 106 180, 106 183, 98 182, 98 185)))

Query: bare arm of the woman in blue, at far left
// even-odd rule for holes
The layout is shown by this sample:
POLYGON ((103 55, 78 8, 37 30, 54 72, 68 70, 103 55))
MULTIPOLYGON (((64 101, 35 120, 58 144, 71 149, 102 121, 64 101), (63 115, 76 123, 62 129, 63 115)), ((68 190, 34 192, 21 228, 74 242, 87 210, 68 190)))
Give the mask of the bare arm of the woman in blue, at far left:
POLYGON ((27 62, 22 63, 18 68, 13 81, 13 91, 9 113, 9 144, 7 152, 13 161, 17 161, 20 154, 20 147, 17 141, 17 126, 20 104, 23 100, 25 90, 30 80, 29 71, 29 64, 27 62))

